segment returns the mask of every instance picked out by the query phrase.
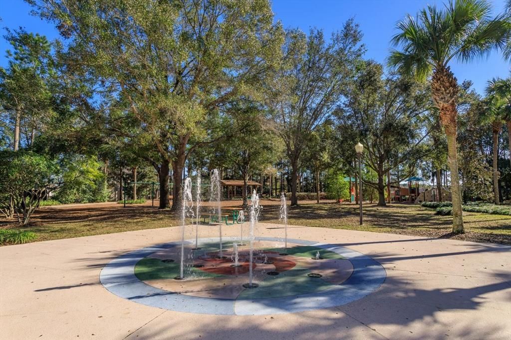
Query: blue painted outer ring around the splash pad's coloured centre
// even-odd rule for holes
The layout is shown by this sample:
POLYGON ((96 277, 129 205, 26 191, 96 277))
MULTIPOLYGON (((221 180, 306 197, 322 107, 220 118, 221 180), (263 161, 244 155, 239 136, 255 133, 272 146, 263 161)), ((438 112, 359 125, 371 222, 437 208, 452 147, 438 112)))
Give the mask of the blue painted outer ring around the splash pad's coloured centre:
MULTIPOLYGON (((237 240, 236 237, 225 237, 237 240)), ((281 241, 275 237, 255 237, 261 241, 281 241)), ((195 241, 195 240, 193 240, 195 241)), ((201 238, 200 244, 218 242, 218 238, 201 238)), ((190 243, 191 241, 187 241, 190 243)), ((101 271, 100 281, 111 293, 133 302, 163 309, 217 315, 262 315, 300 312, 344 305, 361 299, 378 289, 386 278, 383 266, 372 258, 348 248, 316 243, 308 240, 288 239, 288 242, 314 246, 337 253, 350 260, 353 273, 342 284, 319 292, 295 296, 231 300, 195 297, 158 289, 140 281, 135 276, 135 265, 144 257, 157 251, 176 247, 181 242, 171 242, 129 252, 110 261, 101 271)))

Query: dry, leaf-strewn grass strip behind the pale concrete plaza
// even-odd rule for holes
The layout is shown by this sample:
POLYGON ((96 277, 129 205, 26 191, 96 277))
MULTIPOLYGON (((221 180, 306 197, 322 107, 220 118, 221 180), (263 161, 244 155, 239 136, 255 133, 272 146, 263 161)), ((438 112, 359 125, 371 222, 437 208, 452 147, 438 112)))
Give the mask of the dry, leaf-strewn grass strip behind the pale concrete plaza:
MULTIPOLYGON (((263 206, 260 221, 279 221, 280 200, 261 200, 263 206)), ((434 210, 410 204, 390 204, 378 207, 364 205, 364 224, 359 225, 358 206, 333 201, 300 201, 300 205, 289 207, 289 225, 323 227, 335 229, 365 230, 404 235, 420 235, 435 238, 455 238, 479 242, 511 244, 511 216, 481 213, 463 213, 466 233, 452 235, 450 216, 437 216, 434 210)), ((213 203, 216 205, 216 203, 213 203)), ((203 202, 207 210, 209 202, 203 202)), ((223 207, 240 207, 241 200, 221 202, 223 207)), ((179 214, 170 210, 158 210, 157 202, 126 205, 116 202, 68 204, 38 209, 25 228, 38 234, 38 240, 60 239, 172 227, 179 225, 179 214)), ((3 228, 13 228, 13 221, 0 221, 3 228)), ((17 227, 16 227, 17 228, 17 227)))

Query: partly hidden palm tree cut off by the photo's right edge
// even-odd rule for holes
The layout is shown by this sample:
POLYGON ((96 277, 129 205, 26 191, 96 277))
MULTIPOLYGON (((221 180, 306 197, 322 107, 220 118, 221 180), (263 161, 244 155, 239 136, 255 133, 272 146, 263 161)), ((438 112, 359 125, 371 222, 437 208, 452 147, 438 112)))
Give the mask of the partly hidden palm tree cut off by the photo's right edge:
POLYGON ((506 122, 511 160, 511 77, 490 80, 486 86, 486 95, 494 113, 506 122))

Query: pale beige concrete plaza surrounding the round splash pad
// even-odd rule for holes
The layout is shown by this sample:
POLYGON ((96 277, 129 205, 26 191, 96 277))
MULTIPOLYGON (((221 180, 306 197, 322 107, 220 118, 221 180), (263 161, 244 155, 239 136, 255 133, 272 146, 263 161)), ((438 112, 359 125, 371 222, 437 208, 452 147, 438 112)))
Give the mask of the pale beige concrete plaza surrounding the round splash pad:
MULTIPOLYGON (((223 228, 237 236, 234 226, 223 228)), ((201 227, 202 237, 217 228, 201 227)), ((280 225, 258 235, 282 237, 280 225)), ((275 315, 209 315, 122 299, 99 283, 110 260, 179 239, 180 228, 0 248, 1 339, 511 338, 511 247, 290 226, 290 238, 329 242, 380 262, 385 283, 350 304, 275 315)))

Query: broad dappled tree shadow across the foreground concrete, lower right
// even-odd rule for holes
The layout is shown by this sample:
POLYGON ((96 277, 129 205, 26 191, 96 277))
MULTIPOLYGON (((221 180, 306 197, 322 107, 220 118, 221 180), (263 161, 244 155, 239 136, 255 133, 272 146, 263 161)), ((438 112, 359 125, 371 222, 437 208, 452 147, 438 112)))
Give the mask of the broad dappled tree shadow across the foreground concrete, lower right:
MULTIPOLYGON (((496 275, 498 279, 501 275, 496 275)), ((488 314, 485 303, 487 295, 507 289, 509 284, 502 281, 425 289, 391 278, 377 292, 335 308, 215 318, 164 313, 128 338, 505 338, 509 315, 503 310, 488 314), (197 320, 192 327, 185 324, 190 318, 197 320)))

